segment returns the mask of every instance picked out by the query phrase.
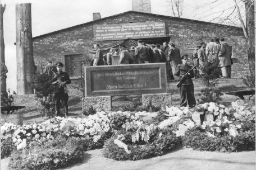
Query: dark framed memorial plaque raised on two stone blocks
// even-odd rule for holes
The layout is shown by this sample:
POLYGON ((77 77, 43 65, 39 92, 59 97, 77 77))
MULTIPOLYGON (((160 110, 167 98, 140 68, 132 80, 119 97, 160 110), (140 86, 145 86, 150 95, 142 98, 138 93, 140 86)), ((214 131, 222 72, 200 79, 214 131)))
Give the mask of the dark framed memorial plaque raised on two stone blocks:
POLYGON ((85 67, 85 95, 166 93, 166 64, 85 67))

